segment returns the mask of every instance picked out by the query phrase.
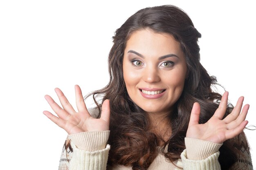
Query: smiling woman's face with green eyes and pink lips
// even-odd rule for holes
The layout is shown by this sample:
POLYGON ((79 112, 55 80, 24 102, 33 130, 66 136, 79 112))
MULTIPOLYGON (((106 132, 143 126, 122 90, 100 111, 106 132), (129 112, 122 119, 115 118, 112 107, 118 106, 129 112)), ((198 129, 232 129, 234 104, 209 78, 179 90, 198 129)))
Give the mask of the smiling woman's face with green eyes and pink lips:
POLYGON ((148 113, 162 115, 182 94, 187 66, 172 35, 142 29, 126 43, 123 71, 132 101, 148 113))

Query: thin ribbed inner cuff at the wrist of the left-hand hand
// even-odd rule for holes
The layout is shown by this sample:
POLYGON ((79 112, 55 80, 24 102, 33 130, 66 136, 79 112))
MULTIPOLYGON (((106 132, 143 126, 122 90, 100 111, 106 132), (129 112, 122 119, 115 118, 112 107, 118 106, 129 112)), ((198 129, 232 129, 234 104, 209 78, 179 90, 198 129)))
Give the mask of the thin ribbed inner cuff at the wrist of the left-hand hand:
POLYGON ((110 130, 90 131, 68 135, 68 137, 80 150, 94 152, 106 148, 109 133, 110 130))

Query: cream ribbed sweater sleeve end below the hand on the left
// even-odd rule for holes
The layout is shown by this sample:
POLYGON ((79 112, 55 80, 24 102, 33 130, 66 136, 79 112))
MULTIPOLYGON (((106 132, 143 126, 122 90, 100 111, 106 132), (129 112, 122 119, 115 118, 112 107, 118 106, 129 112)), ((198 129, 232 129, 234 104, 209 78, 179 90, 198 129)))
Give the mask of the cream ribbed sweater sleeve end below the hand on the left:
POLYGON ((106 170, 110 150, 110 145, 106 144, 109 133, 92 131, 68 135, 72 157, 66 162, 65 168, 60 169, 59 166, 59 170, 106 170))

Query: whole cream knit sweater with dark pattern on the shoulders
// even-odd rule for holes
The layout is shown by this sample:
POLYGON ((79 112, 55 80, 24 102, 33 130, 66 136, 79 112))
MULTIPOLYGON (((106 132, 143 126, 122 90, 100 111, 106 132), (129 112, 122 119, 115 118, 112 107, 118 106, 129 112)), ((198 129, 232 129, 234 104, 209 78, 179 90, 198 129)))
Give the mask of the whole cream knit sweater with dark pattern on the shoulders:
MULTIPOLYGON (((63 146, 59 170, 132 170, 131 167, 107 166, 107 144, 110 131, 81 132, 68 135, 63 146)), ((220 170, 218 151, 222 144, 199 139, 185 138, 186 149, 175 163, 183 170, 220 170)), ((247 155, 239 159, 231 170, 253 170, 248 148, 241 148, 247 155)), ((148 170, 180 170, 166 161, 164 155, 157 155, 148 170)))

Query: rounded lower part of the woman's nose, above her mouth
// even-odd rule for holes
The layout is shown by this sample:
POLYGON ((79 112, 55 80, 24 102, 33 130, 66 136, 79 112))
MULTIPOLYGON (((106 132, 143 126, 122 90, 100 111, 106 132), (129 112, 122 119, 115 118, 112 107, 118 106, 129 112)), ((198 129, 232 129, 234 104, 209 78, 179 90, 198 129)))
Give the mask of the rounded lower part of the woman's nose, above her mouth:
POLYGON ((157 68, 148 67, 145 68, 143 73, 143 80, 148 83, 159 82, 160 77, 157 68))

